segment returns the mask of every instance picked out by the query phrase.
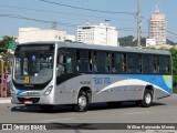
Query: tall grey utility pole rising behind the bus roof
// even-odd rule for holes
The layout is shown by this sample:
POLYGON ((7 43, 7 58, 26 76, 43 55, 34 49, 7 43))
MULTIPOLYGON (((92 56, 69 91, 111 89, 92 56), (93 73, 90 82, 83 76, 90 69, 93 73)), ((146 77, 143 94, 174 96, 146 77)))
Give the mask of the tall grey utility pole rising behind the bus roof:
POLYGON ((140 24, 142 24, 142 20, 140 20, 140 0, 137 0, 137 47, 140 48, 140 24))

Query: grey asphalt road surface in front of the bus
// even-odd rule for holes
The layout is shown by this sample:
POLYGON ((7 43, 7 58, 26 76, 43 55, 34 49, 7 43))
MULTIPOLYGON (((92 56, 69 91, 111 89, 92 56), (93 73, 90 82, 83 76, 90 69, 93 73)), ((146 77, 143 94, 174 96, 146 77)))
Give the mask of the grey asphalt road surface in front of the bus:
MULTIPOLYGON (((72 130, 48 131, 58 133, 117 133, 117 132, 156 132, 145 130, 92 130, 83 123, 177 123, 177 94, 154 101, 150 108, 135 106, 134 102, 125 102, 121 106, 110 108, 106 103, 93 104, 87 112, 76 113, 70 106, 55 106, 44 113, 38 106, 0 104, 0 123, 53 123, 72 130), (80 123, 75 129, 69 123, 80 123), (84 130, 83 130, 84 129, 84 130)), ((106 126, 104 124, 103 126, 106 126)), ((13 131, 19 133, 19 131, 13 131)), ((23 132, 23 131, 22 131, 23 132)), ((31 132, 31 131, 25 131, 31 132)), ((160 131, 177 132, 177 131, 160 131)))

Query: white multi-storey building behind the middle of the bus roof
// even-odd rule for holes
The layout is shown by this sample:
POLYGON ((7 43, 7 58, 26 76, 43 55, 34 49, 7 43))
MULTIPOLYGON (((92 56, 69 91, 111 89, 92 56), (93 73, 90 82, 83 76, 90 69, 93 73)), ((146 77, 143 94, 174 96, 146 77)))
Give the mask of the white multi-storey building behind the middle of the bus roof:
POLYGON ((98 25, 79 25, 77 41, 90 44, 104 44, 117 47, 118 32, 115 27, 111 27, 107 22, 98 25))

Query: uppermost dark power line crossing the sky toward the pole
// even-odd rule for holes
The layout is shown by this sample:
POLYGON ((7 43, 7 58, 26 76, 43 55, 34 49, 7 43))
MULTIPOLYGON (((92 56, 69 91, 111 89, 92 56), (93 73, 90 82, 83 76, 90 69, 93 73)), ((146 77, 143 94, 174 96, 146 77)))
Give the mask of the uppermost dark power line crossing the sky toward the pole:
POLYGON ((50 4, 56 4, 56 6, 62 6, 62 7, 66 7, 66 8, 72 8, 72 9, 77 9, 77 10, 86 10, 86 11, 93 11, 93 12, 101 12, 101 13, 123 13, 123 14, 131 14, 131 16, 135 16, 136 13, 132 13, 132 12, 116 12, 116 11, 105 11, 105 10, 96 10, 96 9, 88 9, 88 8, 81 8, 81 7, 75 7, 75 6, 70 6, 70 4, 63 4, 63 3, 59 3, 59 2, 53 2, 53 1, 49 1, 49 0, 40 0, 42 2, 46 2, 50 4))

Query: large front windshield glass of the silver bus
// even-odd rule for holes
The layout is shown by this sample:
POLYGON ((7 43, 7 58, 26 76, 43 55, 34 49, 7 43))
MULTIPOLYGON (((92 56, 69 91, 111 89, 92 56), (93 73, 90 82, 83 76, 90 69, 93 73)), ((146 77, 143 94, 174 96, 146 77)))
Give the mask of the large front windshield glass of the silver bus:
POLYGON ((14 55, 13 81, 20 84, 42 84, 53 75, 54 51, 24 51, 14 55))

